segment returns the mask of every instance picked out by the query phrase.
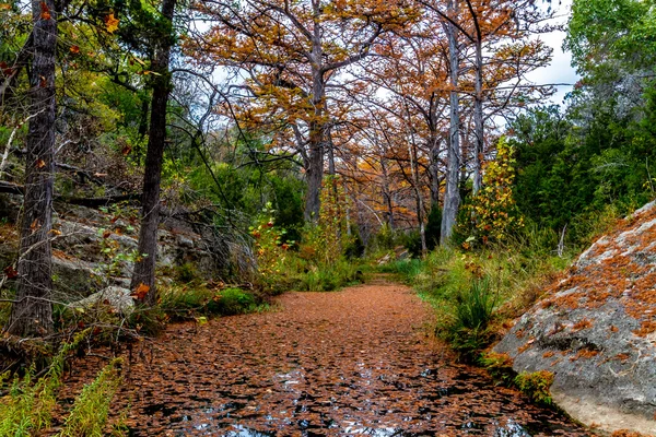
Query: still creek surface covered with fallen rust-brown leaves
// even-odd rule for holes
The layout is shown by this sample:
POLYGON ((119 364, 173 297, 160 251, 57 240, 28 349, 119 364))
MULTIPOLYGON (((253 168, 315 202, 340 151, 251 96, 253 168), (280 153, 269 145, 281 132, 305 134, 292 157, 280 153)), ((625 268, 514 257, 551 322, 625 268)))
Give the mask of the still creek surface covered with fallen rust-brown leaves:
MULTIPOLYGON (((132 353, 112 414, 134 436, 590 435, 456 364, 430 334, 433 317, 412 290, 378 279, 172 324, 132 353)), ((65 399, 103 364, 77 363, 65 399)))

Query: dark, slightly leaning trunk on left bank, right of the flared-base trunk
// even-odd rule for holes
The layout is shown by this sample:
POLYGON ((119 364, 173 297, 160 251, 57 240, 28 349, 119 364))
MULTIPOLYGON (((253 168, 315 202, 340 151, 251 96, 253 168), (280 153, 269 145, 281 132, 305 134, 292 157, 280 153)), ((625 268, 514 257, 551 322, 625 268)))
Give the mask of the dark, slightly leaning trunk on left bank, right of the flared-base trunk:
MULTIPOLYGON (((162 2, 162 16, 172 25, 176 0, 162 2)), ((138 290, 148 287, 144 303, 153 305, 156 302, 155 262, 157 260, 157 227, 160 225, 160 182, 162 180, 162 162, 166 144, 166 106, 171 93, 171 73, 168 64, 173 47, 173 29, 160 35, 155 40, 152 62, 153 96, 151 102, 151 120, 145 152, 145 170, 143 175, 143 198, 141 211, 141 231, 139 233, 139 253, 143 255, 134 262, 134 272, 130 287, 138 290)))

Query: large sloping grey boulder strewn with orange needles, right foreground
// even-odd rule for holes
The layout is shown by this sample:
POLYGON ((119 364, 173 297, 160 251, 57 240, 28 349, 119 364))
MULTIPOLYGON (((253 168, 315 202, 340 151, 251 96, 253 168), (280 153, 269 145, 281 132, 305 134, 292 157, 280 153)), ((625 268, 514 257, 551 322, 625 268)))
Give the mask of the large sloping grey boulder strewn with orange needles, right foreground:
POLYGON ((554 374, 554 401, 606 430, 656 434, 656 208, 597 240, 495 346, 554 374))

